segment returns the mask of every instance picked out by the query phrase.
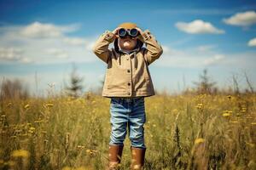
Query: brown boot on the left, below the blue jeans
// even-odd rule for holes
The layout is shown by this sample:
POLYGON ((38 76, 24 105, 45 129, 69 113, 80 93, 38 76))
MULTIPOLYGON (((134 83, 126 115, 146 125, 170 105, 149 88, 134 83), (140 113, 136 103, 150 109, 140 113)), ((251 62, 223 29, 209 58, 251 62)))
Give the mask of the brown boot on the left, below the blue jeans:
POLYGON ((108 170, 119 169, 119 163, 123 153, 124 145, 112 145, 109 144, 108 150, 108 170))

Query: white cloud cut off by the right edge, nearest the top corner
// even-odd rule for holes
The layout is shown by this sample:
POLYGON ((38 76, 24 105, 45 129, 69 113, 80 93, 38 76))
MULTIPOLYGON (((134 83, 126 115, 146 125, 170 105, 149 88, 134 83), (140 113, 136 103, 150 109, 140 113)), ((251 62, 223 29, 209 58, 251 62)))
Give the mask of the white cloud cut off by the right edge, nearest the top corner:
POLYGON ((255 11, 236 13, 223 21, 225 24, 233 26, 251 26, 256 24, 256 13, 255 11))

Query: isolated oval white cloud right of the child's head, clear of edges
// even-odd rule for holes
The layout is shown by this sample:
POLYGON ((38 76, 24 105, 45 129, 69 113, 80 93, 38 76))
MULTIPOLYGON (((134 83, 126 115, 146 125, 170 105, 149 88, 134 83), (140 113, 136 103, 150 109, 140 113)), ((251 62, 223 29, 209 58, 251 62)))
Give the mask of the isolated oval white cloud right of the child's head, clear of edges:
POLYGON ((175 24, 178 30, 184 31, 189 34, 223 34, 224 30, 219 30, 218 28, 212 26, 210 22, 205 22, 203 20, 194 20, 189 23, 177 22, 175 24))

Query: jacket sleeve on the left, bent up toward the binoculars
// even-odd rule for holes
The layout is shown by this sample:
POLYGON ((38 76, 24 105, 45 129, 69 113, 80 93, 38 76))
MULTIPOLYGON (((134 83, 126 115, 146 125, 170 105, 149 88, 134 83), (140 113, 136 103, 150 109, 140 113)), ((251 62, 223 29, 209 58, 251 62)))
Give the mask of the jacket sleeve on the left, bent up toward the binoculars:
POLYGON ((114 35, 111 31, 105 31, 97 40, 93 46, 93 53, 105 63, 108 63, 108 58, 111 56, 111 51, 108 49, 108 45, 113 42, 114 35))

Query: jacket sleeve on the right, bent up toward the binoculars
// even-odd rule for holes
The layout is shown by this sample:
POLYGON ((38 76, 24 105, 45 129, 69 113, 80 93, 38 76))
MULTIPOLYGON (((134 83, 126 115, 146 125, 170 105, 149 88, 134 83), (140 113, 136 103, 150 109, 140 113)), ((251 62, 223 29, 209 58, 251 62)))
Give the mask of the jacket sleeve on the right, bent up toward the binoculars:
POLYGON ((157 42, 149 30, 143 31, 142 37, 143 42, 146 44, 144 57, 147 60, 148 65, 150 65, 154 62, 155 59, 160 58, 160 55, 163 54, 163 48, 160 46, 160 43, 157 42))

